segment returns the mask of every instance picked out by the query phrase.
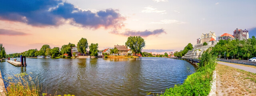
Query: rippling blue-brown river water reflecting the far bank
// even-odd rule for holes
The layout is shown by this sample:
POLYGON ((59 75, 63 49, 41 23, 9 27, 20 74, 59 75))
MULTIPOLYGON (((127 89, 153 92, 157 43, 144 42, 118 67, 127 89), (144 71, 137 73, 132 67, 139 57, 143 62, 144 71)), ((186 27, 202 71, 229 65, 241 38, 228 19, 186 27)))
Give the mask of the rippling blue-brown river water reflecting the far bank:
MULTIPOLYGON (((19 58, 18 58, 19 60, 19 58)), ((181 84, 196 68, 184 60, 170 58, 94 58, 37 59, 26 58, 26 67, 0 63, 2 76, 26 72, 38 76, 42 91, 76 96, 145 96, 163 93, 181 84)))

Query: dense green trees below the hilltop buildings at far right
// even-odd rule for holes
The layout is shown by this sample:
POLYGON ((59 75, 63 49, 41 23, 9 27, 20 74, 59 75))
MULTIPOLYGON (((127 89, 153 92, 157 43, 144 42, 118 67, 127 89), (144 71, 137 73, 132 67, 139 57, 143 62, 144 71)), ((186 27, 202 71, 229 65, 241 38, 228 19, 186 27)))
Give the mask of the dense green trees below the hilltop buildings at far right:
POLYGON ((220 40, 213 48, 212 54, 219 58, 244 59, 256 57, 256 38, 247 40, 220 40))

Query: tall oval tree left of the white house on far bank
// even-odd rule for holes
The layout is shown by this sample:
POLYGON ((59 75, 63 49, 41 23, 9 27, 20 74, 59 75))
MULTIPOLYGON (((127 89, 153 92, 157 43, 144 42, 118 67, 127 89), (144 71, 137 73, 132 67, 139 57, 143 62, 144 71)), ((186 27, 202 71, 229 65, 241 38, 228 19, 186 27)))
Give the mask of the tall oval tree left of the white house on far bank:
POLYGON ((86 49, 88 48, 88 42, 86 38, 81 38, 77 43, 77 50, 82 54, 86 54, 86 49))

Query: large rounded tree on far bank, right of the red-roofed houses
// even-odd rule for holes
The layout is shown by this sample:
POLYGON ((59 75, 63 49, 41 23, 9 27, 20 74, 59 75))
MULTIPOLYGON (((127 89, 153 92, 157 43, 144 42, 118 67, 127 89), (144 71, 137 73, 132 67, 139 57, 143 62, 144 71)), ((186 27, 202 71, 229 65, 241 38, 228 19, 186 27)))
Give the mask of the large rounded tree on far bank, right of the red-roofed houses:
POLYGON ((130 36, 125 42, 126 47, 129 47, 133 53, 139 54, 143 47, 145 47, 145 41, 140 36, 130 36))

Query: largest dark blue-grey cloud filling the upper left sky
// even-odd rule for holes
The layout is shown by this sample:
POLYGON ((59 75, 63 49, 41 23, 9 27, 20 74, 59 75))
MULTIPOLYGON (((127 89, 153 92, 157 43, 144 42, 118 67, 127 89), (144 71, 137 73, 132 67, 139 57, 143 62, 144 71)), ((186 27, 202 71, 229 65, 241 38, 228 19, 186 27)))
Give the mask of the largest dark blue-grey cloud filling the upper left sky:
POLYGON ((84 28, 118 27, 126 19, 118 10, 82 10, 62 0, 4 0, 0 20, 23 22, 32 26, 72 24, 84 28), (97 11, 97 12, 95 12, 97 11))

